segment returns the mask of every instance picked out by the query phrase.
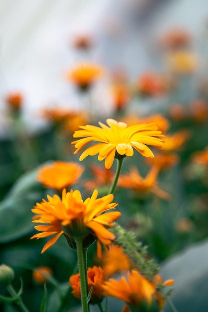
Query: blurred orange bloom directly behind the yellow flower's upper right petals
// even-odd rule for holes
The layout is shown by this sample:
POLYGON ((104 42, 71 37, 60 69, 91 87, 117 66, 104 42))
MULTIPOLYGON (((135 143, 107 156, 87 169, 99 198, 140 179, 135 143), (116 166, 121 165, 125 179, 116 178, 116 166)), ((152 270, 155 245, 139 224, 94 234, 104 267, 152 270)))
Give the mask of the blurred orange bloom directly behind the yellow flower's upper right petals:
POLYGON ((130 125, 136 125, 136 124, 149 124, 153 123, 156 127, 158 127, 158 130, 162 132, 166 132, 168 128, 170 127, 169 121, 167 118, 162 116, 161 114, 153 114, 146 117, 137 117, 135 115, 130 115, 129 117, 126 117, 122 119, 125 123, 130 125))

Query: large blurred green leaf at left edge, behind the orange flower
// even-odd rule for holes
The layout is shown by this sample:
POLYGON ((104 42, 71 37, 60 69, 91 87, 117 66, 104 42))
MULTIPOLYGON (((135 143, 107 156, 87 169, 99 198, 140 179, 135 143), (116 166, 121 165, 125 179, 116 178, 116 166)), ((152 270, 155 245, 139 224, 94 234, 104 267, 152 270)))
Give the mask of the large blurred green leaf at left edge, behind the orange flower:
POLYGON ((31 209, 45 193, 35 181, 37 170, 23 174, 0 203, 0 243, 14 241, 34 229, 31 209))

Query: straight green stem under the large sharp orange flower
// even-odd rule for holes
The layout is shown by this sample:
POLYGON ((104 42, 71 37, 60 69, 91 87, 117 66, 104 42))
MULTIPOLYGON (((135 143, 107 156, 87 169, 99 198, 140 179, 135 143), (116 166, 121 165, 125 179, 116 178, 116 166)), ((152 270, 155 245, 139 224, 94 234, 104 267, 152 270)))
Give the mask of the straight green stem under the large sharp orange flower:
POLYGON ((77 258, 78 258, 78 268, 79 268, 79 278, 80 278, 80 289, 81 289, 81 301, 82 301, 82 311, 89 312, 87 303, 87 288, 86 288, 86 266, 84 261, 84 253, 82 246, 82 239, 76 239, 77 247, 77 258))

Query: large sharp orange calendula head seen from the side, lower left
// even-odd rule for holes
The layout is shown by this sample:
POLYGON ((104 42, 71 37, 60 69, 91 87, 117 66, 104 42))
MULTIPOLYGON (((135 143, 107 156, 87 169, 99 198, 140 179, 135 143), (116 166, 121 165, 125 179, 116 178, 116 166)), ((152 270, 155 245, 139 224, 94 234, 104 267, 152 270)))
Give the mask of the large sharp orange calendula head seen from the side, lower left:
POLYGON ((32 212, 36 214, 32 222, 44 225, 35 226, 35 229, 41 233, 31 238, 39 239, 53 235, 45 244, 42 253, 51 247, 62 234, 68 238, 67 241, 93 236, 94 240, 97 237, 105 245, 111 244, 115 236, 105 226, 113 226, 113 222, 120 217, 121 213, 116 211, 103 214, 115 208, 117 204, 111 203, 112 194, 102 198, 97 198, 97 195, 97 190, 94 190, 92 197, 83 201, 78 190, 71 190, 67 193, 64 189, 62 199, 58 195, 53 195, 53 197, 48 195, 48 201, 43 199, 41 203, 36 204, 32 209, 32 212))

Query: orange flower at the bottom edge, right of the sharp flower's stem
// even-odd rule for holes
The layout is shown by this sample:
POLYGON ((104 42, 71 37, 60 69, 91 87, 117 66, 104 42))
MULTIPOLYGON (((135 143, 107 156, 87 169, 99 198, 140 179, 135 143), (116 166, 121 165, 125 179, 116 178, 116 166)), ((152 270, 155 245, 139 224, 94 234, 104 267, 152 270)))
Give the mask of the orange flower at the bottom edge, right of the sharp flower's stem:
MULTIPOLYGON (((140 311, 142 303, 150 306, 155 293, 155 287, 136 270, 127 272, 127 278, 123 276, 119 281, 109 279, 104 283, 103 290, 105 296, 123 300, 134 309, 133 311, 136 311, 136 308, 140 311)), ((128 306, 124 309, 125 312, 131 311, 128 306)))

